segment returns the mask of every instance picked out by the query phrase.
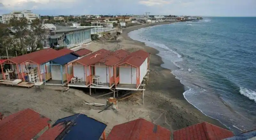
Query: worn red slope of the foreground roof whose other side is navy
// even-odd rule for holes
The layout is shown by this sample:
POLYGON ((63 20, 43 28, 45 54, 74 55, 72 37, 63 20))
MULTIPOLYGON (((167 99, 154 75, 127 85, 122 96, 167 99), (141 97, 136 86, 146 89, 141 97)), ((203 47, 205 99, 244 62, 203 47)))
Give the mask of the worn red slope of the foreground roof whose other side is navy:
POLYGON ((59 123, 58 125, 45 131, 44 134, 41 135, 37 140, 55 140, 64 129, 65 126, 63 126, 62 123, 59 123))

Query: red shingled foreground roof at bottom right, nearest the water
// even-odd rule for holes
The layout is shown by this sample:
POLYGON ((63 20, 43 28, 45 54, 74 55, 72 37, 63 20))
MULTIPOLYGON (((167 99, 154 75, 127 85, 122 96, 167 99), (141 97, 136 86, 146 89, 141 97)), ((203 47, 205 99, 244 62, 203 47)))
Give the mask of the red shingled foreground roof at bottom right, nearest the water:
POLYGON ((232 136, 234 136, 233 132, 208 122, 198 123, 173 132, 173 140, 222 140, 232 136))

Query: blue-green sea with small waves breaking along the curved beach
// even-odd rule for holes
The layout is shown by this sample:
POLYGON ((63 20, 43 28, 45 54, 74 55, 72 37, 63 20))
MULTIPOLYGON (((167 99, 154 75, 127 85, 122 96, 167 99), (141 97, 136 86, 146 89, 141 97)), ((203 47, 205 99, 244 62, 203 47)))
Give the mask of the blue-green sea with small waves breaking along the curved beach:
POLYGON ((256 18, 204 17, 128 34, 159 50, 185 99, 236 134, 256 129, 256 18))

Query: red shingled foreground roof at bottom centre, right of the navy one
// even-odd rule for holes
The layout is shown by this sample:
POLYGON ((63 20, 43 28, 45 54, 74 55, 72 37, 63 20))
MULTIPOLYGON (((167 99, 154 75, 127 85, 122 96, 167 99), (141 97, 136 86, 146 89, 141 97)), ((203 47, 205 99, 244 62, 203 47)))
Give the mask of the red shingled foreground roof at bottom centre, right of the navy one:
POLYGON ((171 131, 144 119, 113 127, 107 140, 170 140, 171 131))

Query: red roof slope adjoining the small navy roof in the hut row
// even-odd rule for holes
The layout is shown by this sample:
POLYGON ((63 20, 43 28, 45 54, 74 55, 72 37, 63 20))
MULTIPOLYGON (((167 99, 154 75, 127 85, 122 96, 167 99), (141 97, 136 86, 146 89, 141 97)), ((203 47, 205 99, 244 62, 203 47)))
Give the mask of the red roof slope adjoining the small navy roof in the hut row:
POLYGON ((55 58, 58 58, 60 56, 63 56, 63 55, 66 55, 66 54, 69 54, 72 52, 74 52, 74 51, 71 49, 63 48, 58 51, 55 50, 50 54, 47 53, 47 54, 41 54, 40 56, 32 57, 29 60, 31 60, 37 64, 43 64, 43 63, 49 62, 55 58))

